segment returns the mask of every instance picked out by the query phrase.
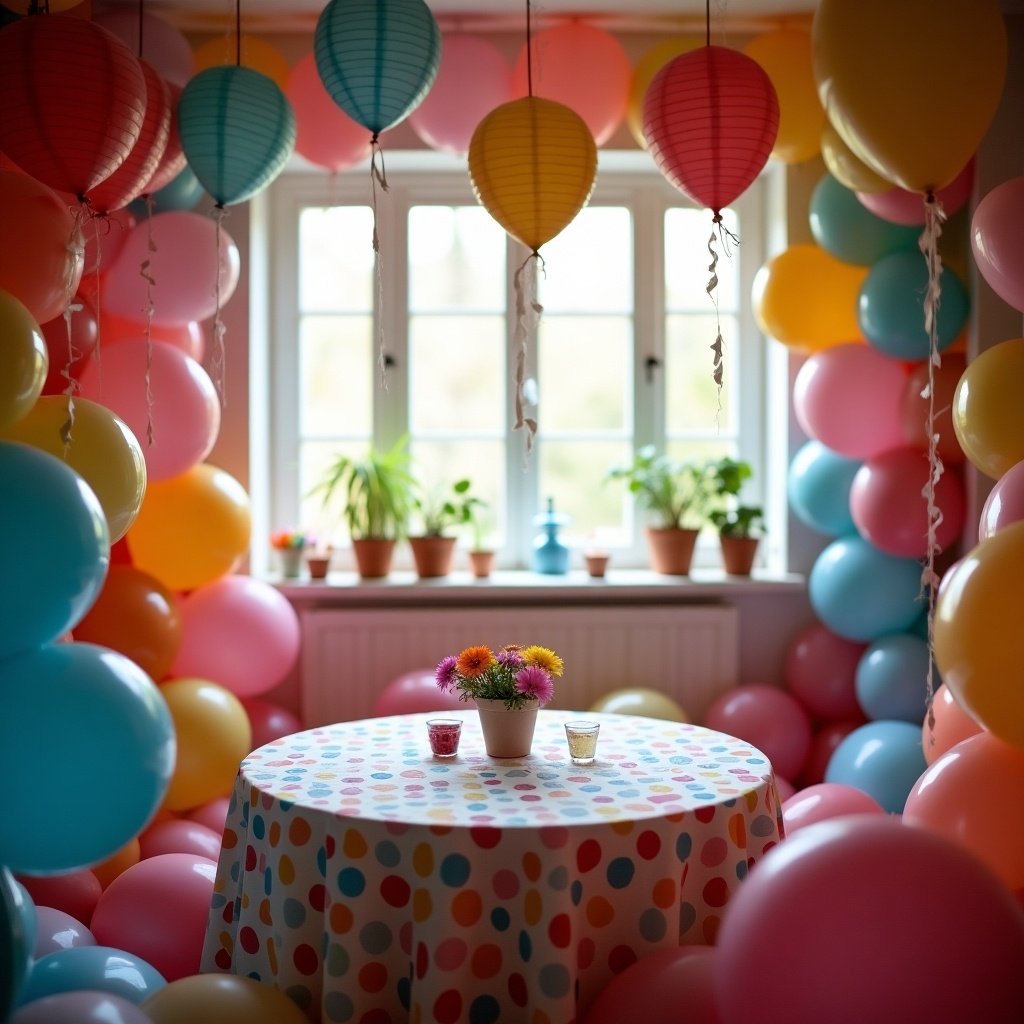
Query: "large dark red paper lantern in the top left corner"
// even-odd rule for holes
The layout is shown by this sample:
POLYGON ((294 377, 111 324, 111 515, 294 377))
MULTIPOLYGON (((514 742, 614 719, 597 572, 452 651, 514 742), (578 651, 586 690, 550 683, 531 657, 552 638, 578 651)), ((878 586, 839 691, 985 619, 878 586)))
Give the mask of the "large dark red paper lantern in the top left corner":
POLYGON ((0 150, 79 199, 124 163, 145 115, 138 60, 112 33, 70 14, 0 32, 0 150))

